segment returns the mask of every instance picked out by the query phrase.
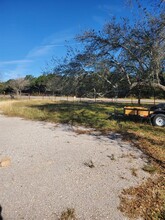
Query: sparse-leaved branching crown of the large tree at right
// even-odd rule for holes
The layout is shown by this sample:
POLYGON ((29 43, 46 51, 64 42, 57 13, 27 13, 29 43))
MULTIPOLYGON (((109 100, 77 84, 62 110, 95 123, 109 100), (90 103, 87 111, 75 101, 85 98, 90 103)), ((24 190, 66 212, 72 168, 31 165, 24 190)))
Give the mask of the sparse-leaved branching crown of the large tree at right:
POLYGON ((105 79, 112 88, 152 86, 165 91, 163 8, 153 16, 142 6, 142 17, 132 23, 116 18, 101 31, 89 30, 77 36, 85 44, 83 58, 86 66, 105 79), (114 76, 114 78, 112 77, 114 76))

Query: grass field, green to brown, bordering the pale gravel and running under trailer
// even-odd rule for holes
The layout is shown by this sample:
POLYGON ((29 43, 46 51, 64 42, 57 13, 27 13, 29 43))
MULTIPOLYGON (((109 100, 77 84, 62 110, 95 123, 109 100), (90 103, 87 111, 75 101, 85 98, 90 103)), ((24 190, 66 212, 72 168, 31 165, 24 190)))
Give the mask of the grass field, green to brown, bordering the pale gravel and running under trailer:
POLYGON ((128 189, 124 191, 121 197, 124 205, 121 205, 121 210, 127 212, 130 217, 141 215, 144 219, 165 219, 165 128, 153 127, 149 121, 114 117, 112 115, 114 109, 118 113, 122 113, 124 106, 125 104, 114 103, 52 102, 44 100, 0 102, 0 110, 9 116, 82 125, 95 128, 103 134, 109 132, 121 133, 123 139, 132 142, 148 156, 149 163, 144 167, 144 170, 159 174, 157 179, 149 179, 147 183, 139 186, 139 188, 137 187, 136 190, 128 189), (148 192, 146 197, 144 196, 145 192, 148 192), (127 200, 129 195, 134 195, 134 199, 130 203, 127 200), (141 205, 139 206, 140 198, 141 205), (134 212, 131 210, 134 210, 134 212))

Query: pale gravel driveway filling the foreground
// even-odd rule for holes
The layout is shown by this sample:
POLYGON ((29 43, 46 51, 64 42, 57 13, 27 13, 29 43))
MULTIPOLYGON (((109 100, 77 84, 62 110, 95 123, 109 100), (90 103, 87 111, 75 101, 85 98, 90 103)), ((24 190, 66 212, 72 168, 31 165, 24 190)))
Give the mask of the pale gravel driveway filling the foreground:
POLYGON ((4 220, 56 220, 67 208, 80 220, 127 219, 118 196, 148 177, 142 153, 117 134, 74 129, 0 115, 4 220))

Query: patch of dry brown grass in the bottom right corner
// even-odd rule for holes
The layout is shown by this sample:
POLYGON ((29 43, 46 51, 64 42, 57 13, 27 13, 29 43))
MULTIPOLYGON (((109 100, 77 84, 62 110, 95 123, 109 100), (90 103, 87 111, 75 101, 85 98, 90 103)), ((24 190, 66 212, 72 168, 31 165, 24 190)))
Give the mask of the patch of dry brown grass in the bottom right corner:
POLYGON ((149 178, 138 187, 125 189, 120 196, 120 210, 129 218, 165 219, 165 178, 149 178))

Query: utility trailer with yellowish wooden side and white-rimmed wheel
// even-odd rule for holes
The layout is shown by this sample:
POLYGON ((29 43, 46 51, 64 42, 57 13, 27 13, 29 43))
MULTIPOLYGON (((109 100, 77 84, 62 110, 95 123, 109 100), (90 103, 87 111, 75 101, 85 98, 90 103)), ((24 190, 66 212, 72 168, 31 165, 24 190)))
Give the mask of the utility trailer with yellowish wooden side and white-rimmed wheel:
POLYGON ((165 103, 154 105, 151 108, 144 107, 124 107, 125 116, 137 116, 140 118, 150 119, 153 125, 164 127, 165 126, 165 103))

